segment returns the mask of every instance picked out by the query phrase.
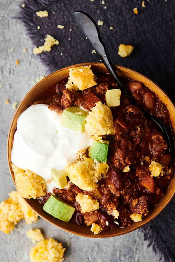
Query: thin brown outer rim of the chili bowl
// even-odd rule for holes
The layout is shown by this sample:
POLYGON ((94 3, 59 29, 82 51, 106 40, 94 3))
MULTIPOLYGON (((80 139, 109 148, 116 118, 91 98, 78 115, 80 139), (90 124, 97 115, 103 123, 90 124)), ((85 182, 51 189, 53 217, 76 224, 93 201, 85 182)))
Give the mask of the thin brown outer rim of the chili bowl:
MULTIPOLYGON (((10 128, 9 128, 9 131, 8 131, 8 138, 7 138, 7 160, 8 160, 8 168, 9 168, 10 175, 11 175, 11 178, 12 178, 12 180, 13 180, 13 183, 14 183, 15 187, 16 187, 16 184, 15 184, 15 180, 14 180, 14 178, 13 178, 13 176, 12 176, 11 166, 10 166, 10 155, 11 155, 11 152, 9 153, 9 140, 10 140, 10 133, 11 133, 11 130, 12 130, 13 122, 14 122, 14 120, 15 120, 15 118, 16 118, 16 115, 17 115, 18 110, 20 109, 20 106, 22 105, 22 103, 24 102, 24 100, 26 99, 26 97, 27 97, 35 88, 37 88, 37 86, 38 86, 39 84, 41 85, 41 83, 44 82, 47 78, 51 77, 52 75, 55 75, 57 72, 61 72, 61 71, 67 70, 67 69, 69 69, 69 68, 71 68, 71 67, 86 66, 86 65, 92 65, 92 66, 94 66, 94 65, 104 65, 104 64, 103 64, 103 63, 100 63, 100 62, 89 62, 89 63, 86 62, 86 63, 78 63, 78 64, 66 66, 66 67, 64 67, 64 68, 60 68, 60 69, 56 70, 55 72, 50 73, 49 75, 47 75, 46 77, 44 77, 41 81, 39 81, 37 84, 35 84, 35 85, 27 92, 27 94, 24 96, 24 98, 23 98, 23 99, 21 100, 21 102, 19 103, 19 105, 18 105, 18 107, 17 107, 17 110, 15 111, 15 114, 14 114, 14 116, 13 116, 13 118, 12 118, 11 123, 10 123, 10 128)), ((117 70, 119 70, 119 71, 120 71, 120 69, 121 69, 121 70, 124 71, 124 72, 131 72, 131 73, 133 73, 134 75, 140 76, 140 77, 142 77, 143 79, 145 79, 146 81, 150 82, 150 83, 151 83, 152 85, 154 85, 164 96, 167 97, 167 99, 169 100, 171 106, 174 108, 174 111, 175 111, 175 105, 174 105, 174 103, 172 102, 171 98, 169 98, 169 96, 168 96, 168 95, 160 88, 160 86, 158 86, 154 81, 152 81, 151 79, 149 79, 149 78, 146 77, 145 75, 143 75, 143 74, 141 74, 141 73, 139 73, 139 72, 137 72, 137 71, 135 71, 135 70, 132 70, 132 69, 123 67, 123 66, 121 66, 121 65, 114 65, 114 66, 115 66, 115 68, 116 68, 117 70)), ((16 187, 16 189, 17 189, 17 187, 16 187)), ((73 231, 73 230, 71 230, 71 229, 66 229, 66 228, 64 228, 64 226, 60 226, 60 225, 58 225, 58 224, 50 221, 50 219, 48 219, 48 218, 44 217, 43 215, 41 215, 33 206, 31 206, 31 205, 29 204, 28 199, 24 199, 24 198, 23 198, 23 199, 24 199, 24 201, 27 203, 27 205, 28 205, 32 210, 34 210, 34 212, 35 212, 39 217, 43 218, 44 220, 46 220, 46 221, 49 222, 50 224, 56 226, 57 228, 60 228, 60 229, 62 229, 62 230, 64 230, 64 231, 66 231, 66 232, 68 232, 68 233, 72 233, 72 234, 74 234, 74 235, 76 235, 76 236, 83 236, 83 237, 88 237, 88 238, 111 238, 111 237, 115 237, 115 236, 125 235, 125 234, 127 234, 127 233, 130 233, 130 232, 132 232, 132 231, 134 231, 134 230, 136 230, 136 229, 139 229, 140 227, 148 224, 151 220, 153 220, 155 217, 157 217, 157 215, 159 215, 159 214, 162 212, 162 210, 169 204, 169 202, 170 202, 171 199, 174 197, 174 195, 175 195, 175 192, 171 195, 171 197, 168 199, 168 201, 167 201, 166 203, 164 203, 164 205, 160 208, 160 210, 157 210, 157 212, 156 212, 155 214, 153 214, 153 216, 151 216, 150 218, 148 218, 146 221, 145 221, 145 219, 146 219, 146 217, 145 217, 145 219, 144 219, 143 221, 139 222, 139 225, 136 225, 134 228, 129 228, 129 227, 127 227, 126 232, 113 233, 113 234, 110 234, 110 235, 108 235, 108 234, 106 234, 106 235, 100 235, 100 234, 98 234, 98 235, 88 235, 88 234, 86 234, 86 233, 79 233, 79 232, 73 231)), ((107 230, 107 231, 108 231, 108 230, 107 230)))

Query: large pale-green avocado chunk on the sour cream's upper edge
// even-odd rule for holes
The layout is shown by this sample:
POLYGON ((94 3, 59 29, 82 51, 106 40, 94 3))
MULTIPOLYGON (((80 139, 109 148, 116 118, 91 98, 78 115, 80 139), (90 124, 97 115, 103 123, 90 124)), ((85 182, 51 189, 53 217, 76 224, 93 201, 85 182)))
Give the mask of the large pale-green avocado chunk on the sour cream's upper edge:
POLYGON ((61 125, 74 131, 84 132, 88 111, 79 107, 69 107, 65 109, 61 117, 61 125))

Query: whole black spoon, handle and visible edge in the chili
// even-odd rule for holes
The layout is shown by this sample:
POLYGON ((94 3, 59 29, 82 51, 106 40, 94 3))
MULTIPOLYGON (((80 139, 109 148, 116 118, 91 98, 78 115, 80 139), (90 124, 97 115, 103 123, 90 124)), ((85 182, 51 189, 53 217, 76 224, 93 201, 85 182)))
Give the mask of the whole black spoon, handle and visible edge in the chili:
MULTIPOLYGON (((111 62, 106 47, 101 39, 98 26, 94 19, 83 11, 75 11, 72 16, 78 28, 93 45, 94 50, 99 55, 101 61, 104 63, 114 80, 117 82, 122 93, 124 93, 131 100, 131 102, 135 104, 133 97, 127 92, 126 88, 121 84, 119 80, 119 76, 115 70, 114 65, 111 62)), ((154 121, 162 130, 164 138, 168 141, 169 153, 171 154, 171 164, 174 166, 175 140, 172 131, 166 128, 158 118, 151 116, 147 112, 144 112, 144 116, 154 121)))

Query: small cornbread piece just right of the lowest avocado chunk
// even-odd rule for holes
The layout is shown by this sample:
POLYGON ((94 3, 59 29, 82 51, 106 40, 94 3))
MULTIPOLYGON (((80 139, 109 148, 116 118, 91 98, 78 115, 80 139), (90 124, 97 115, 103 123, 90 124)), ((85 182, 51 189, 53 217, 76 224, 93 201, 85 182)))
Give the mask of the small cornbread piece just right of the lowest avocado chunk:
POLYGON ((91 212, 99 208, 99 202, 97 199, 93 200, 90 195, 78 193, 75 199, 80 204, 83 213, 91 212))

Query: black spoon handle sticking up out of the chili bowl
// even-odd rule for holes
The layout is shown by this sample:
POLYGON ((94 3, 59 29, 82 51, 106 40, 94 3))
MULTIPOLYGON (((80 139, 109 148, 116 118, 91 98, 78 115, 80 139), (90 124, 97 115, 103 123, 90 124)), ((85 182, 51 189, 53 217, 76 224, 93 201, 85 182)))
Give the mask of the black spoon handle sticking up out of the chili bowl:
POLYGON ((74 18, 74 21, 76 22, 76 25, 83 33, 83 35, 87 37, 90 43, 93 45, 95 52, 98 54, 101 61, 106 66, 109 73, 114 78, 115 82, 117 82, 117 84, 119 85, 120 90, 123 93, 125 93, 125 95, 129 96, 126 90, 122 87, 118 74, 115 70, 113 63, 111 62, 111 59, 106 50, 106 47, 101 39, 98 26, 96 22, 94 21, 94 19, 83 11, 75 11, 73 13, 73 18, 74 18))

